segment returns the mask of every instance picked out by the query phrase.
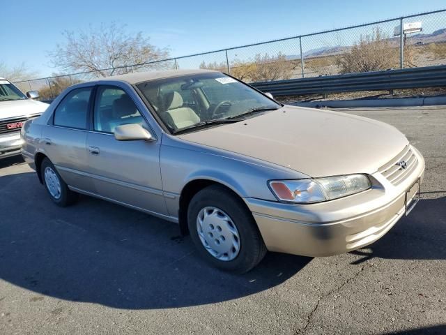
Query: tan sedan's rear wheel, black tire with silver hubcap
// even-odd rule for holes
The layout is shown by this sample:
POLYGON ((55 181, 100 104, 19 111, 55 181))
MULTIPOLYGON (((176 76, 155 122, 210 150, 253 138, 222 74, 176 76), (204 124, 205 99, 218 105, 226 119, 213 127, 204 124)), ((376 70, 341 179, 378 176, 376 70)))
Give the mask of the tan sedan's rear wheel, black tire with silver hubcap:
POLYGON ((70 191, 68 185, 63 181, 61 175, 48 158, 43 158, 42 165, 40 165, 40 174, 49 198, 55 204, 60 207, 66 207, 77 200, 77 193, 70 191))

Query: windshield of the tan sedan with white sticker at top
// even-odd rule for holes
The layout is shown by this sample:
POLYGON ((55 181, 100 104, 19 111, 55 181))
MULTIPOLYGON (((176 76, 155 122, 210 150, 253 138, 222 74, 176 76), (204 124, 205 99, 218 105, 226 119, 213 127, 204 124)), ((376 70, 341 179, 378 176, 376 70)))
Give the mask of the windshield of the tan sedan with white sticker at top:
POLYGON ((201 73, 137 84, 172 132, 240 121, 281 107, 222 73, 201 73))

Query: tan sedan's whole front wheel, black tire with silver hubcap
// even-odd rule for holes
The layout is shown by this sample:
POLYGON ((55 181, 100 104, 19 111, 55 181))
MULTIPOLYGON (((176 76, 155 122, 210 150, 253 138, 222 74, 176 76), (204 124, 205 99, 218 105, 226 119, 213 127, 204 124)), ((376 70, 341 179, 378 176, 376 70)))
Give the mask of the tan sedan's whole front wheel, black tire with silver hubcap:
POLYGON ((195 246, 213 266, 243 274, 266 254, 266 246, 243 201, 222 186, 208 186, 192 198, 187 224, 195 246))

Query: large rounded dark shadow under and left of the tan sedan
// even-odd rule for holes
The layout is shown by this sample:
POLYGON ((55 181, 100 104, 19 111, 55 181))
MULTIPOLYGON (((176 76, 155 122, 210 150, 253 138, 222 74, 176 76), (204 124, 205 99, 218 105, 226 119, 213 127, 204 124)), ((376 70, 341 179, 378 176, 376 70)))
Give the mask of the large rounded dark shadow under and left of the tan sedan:
POLYGON ((268 253, 248 274, 226 274, 174 223, 88 197, 56 207, 35 172, 0 177, 0 192, 0 278, 37 295, 130 309, 211 304, 268 290, 312 260, 268 253))

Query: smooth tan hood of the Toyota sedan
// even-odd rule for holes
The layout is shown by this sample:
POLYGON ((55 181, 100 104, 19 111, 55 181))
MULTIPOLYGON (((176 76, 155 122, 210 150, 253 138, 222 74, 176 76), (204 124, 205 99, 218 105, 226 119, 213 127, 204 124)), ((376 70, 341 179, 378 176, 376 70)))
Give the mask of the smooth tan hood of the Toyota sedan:
POLYGON ((397 128, 383 122, 293 106, 178 137, 311 177, 371 174, 408 145, 397 128))

